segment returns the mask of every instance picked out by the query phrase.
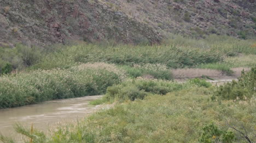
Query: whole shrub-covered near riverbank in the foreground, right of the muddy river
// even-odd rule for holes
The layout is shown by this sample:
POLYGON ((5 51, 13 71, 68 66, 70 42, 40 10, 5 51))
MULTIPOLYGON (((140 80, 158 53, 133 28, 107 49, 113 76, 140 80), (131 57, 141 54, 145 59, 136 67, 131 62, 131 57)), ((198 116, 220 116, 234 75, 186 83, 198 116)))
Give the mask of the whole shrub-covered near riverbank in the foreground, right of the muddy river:
POLYGON ((131 80, 108 88, 103 100, 114 102, 113 108, 60 125, 50 135, 31 134, 21 126, 16 129, 28 140, 45 143, 246 142, 235 129, 247 132, 248 139, 253 141, 256 139, 255 75, 256 70, 252 69, 237 82, 219 87, 200 79, 185 83, 131 80))

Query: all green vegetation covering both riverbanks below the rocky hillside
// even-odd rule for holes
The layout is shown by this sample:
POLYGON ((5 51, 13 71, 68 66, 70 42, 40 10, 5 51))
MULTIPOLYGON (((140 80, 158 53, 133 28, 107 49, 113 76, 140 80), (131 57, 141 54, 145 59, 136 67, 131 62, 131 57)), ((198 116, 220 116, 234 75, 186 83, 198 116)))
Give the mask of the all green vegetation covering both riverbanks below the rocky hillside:
MULTIPOLYGON (((109 42, 2 47, 0 108, 101 94, 106 95, 92 104, 114 104, 51 134, 15 127, 38 143, 245 143, 246 138, 256 140, 255 68, 219 87, 200 78, 174 82, 172 70, 216 69, 232 75, 232 67, 256 65, 253 42, 212 35, 205 40, 177 36, 153 46, 109 42), (35 58, 38 51, 44 56, 35 58), (15 58, 21 62, 15 64, 15 58)), ((15 142, 2 135, 0 141, 15 142)))

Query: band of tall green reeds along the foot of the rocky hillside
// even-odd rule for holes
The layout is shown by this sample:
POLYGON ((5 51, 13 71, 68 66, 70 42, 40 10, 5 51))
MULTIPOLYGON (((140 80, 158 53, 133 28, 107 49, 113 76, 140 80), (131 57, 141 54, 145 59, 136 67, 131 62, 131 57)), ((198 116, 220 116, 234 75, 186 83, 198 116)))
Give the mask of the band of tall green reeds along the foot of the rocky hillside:
MULTIPOLYGON (((30 69, 67 69, 79 63, 99 62, 136 66, 129 69, 137 77, 147 64, 161 64, 168 68, 200 67, 222 70, 231 74, 231 67, 256 65, 256 46, 253 40, 238 40, 228 36, 210 35, 204 40, 173 36, 161 45, 124 45, 116 42, 88 44, 69 42, 66 46, 55 45, 44 49, 17 44, 15 47, 0 47, 0 72, 30 69), (73 45, 73 46, 72 46, 73 45), (245 58, 240 58, 241 55, 245 58), (237 59, 248 59, 237 64, 237 59)), ((154 72, 154 71, 152 71, 154 72)), ((168 75, 162 79, 170 79, 168 75), (166 77, 167 76, 167 77, 166 77)))

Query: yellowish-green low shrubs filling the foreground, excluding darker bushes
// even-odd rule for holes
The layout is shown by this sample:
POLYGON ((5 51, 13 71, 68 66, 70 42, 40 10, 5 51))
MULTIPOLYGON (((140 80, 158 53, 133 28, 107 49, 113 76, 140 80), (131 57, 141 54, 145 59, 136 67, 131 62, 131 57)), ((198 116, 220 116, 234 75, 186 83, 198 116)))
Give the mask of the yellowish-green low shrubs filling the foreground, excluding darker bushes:
POLYGON ((113 108, 100 110, 77 123, 61 124, 46 138, 37 135, 33 141, 199 142, 201 133, 205 133, 211 139, 220 134, 216 137, 224 142, 231 139, 234 139, 232 143, 245 142, 238 138, 240 135, 229 132, 226 121, 231 125, 245 125, 248 138, 255 140, 255 98, 240 103, 218 103, 209 100, 211 92, 210 88, 189 88, 165 96, 116 103, 113 108), (211 122, 215 125, 210 126, 211 122))

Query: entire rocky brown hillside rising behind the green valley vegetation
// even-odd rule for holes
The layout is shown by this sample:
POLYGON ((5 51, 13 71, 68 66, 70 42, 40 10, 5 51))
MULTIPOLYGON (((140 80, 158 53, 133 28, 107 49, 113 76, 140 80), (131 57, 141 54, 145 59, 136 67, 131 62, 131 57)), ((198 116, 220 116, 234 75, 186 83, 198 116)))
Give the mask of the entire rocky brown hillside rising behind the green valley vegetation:
POLYGON ((255 0, 0 0, 0 46, 116 40, 158 43, 170 33, 252 38, 255 0))

